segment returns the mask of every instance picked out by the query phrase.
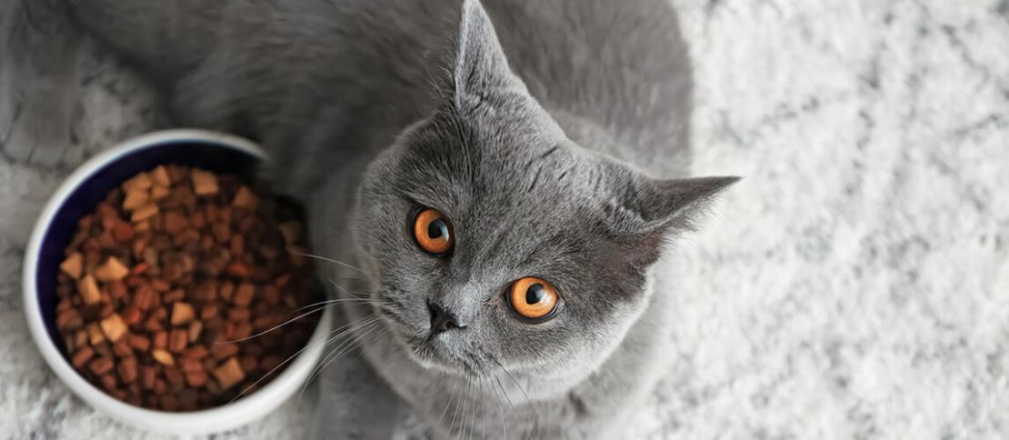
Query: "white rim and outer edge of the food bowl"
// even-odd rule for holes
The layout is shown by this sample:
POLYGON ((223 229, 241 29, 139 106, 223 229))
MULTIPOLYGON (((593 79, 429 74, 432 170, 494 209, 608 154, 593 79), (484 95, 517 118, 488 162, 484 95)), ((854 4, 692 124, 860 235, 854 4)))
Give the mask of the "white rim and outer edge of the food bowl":
POLYGON ((268 161, 268 156, 262 148, 248 139, 202 129, 160 130, 117 143, 78 167, 49 196, 35 221, 28 239, 28 246, 24 252, 21 291, 25 319, 35 346, 49 368, 75 395, 92 408, 127 425, 156 433, 192 435, 220 432, 245 425, 287 402, 299 387, 305 383, 322 355, 326 337, 330 332, 332 309, 325 309, 312 337, 302 351, 288 364, 288 367, 259 390, 219 407, 188 413, 171 413, 134 407, 120 402, 91 384, 78 373, 49 338, 42 319, 35 286, 38 253, 41 249, 42 239, 55 214, 85 180, 105 166, 135 151, 182 141, 213 143, 268 161))

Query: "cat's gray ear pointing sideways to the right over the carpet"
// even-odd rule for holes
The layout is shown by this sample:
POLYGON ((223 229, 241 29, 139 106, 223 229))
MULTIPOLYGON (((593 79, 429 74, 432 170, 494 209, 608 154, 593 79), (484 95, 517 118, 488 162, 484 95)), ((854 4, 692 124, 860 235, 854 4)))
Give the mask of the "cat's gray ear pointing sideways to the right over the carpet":
POLYGON ((635 176, 610 202, 610 230, 625 245, 634 247, 634 259, 650 263, 666 239, 695 229, 705 207, 739 181, 737 177, 658 180, 635 176))

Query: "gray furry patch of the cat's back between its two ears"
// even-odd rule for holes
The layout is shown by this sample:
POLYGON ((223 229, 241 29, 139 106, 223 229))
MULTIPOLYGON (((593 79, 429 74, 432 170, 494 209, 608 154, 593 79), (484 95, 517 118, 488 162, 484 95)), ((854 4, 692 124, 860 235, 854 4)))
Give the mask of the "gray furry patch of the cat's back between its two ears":
POLYGON ((484 5, 512 68, 569 136, 656 176, 686 173, 691 68, 668 0, 484 5))

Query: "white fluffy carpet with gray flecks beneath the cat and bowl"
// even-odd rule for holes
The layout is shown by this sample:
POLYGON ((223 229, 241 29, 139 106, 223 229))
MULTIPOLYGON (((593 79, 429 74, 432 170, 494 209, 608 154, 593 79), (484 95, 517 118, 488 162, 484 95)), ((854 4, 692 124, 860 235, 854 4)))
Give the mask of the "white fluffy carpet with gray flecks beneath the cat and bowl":
MULTIPOLYGON (((695 172, 746 180, 672 256, 681 361, 637 435, 1009 438, 1009 2, 674 3, 696 66, 695 172)), ((74 398, 22 318, 21 252, 47 195, 160 124, 113 61, 82 69, 63 163, 0 157, 0 437, 145 436, 74 398)), ((310 407, 217 437, 298 438, 310 407)))

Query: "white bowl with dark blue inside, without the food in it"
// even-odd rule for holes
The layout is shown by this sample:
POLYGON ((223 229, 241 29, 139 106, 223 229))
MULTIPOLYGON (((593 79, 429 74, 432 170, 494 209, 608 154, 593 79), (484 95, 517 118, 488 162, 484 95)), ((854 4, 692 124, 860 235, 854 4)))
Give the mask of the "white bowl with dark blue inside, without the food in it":
POLYGON ((112 189, 158 164, 179 163, 249 178, 264 152, 254 143, 204 130, 165 130, 126 140, 78 168, 49 198, 28 241, 22 272, 24 313, 42 357, 78 397, 95 409, 151 432, 189 435, 224 431, 274 411, 298 392, 322 355, 330 331, 326 310, 305 348, 266 384, 229 404, 195 412, 148 410, 116 400, 81 375, 61 349, 55 326, 57 283, 64 249, 80 218, 112 189))

